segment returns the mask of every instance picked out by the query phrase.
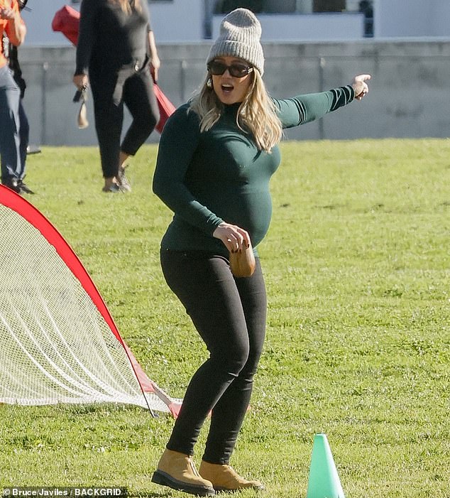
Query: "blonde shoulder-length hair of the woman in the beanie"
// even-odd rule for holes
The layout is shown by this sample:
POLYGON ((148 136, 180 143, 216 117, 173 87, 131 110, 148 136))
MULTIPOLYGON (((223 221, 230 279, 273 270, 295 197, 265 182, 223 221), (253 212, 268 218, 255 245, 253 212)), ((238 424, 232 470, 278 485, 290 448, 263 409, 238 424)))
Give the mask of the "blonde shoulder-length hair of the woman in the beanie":
MULTIPOLYGON (((238 127, 253 134, 258 148, 270 153, 282 137, 282 124, 275 104, 270 98, 260 72, 253 70, 253 82, 248 87, 246 97, 241 102, 236 117, 238 127)), ((208 131, 219 121, 223 104, 212 87, 208 86, 208 74, 199 90, 192 96, 190 109, 200 117, 200 131, 208 131)))

